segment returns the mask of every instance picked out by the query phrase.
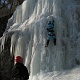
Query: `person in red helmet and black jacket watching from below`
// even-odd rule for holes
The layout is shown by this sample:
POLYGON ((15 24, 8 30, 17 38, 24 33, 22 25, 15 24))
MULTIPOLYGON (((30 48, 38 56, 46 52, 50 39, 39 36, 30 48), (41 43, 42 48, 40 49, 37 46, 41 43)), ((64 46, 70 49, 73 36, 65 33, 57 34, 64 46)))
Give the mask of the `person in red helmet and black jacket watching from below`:
POLYGON ((28 80, 29 79, 29 73, 27 70, 27 67, 23 65, 22 63, 23 58, 21 56, 16 56, 15 62, 12 69, 12 80, 28 80))

